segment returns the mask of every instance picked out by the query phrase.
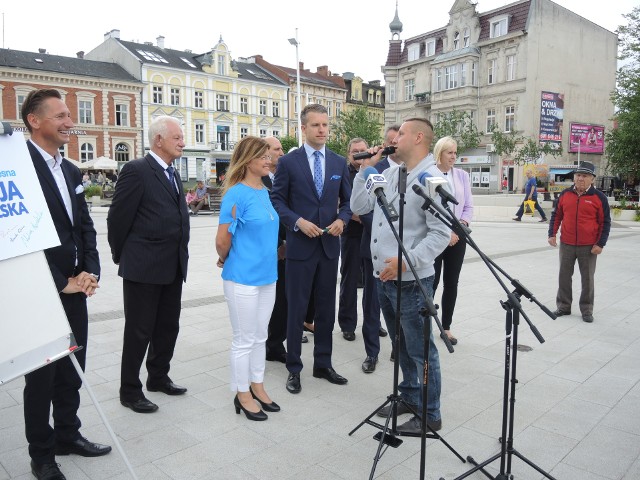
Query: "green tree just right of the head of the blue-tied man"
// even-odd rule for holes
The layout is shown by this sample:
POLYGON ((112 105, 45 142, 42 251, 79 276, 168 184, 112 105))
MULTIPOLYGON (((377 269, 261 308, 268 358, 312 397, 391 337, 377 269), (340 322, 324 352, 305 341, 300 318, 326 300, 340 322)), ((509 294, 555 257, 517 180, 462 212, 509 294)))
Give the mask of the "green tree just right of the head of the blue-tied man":
POLYGON ((341 111, 331 125, 331 138, 327 146, 340 155, 347 154, 347 146, 352 138, 363 138, 370 146, 380 145, 382 125, 369 112, 366 105, 358 105, 348 111, 341 111))

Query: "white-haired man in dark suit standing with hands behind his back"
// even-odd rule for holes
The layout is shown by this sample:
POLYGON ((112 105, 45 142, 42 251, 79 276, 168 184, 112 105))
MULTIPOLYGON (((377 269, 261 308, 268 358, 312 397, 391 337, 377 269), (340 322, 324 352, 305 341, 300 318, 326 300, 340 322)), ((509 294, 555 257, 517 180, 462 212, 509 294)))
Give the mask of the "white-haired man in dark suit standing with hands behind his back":
POLYGON ((139 378, 147 347, 147 390, 187 391, 169 378, 189 258, 189 211, 173 167, 185 145, 180 122, 169 116, 154 119, 149 145, 145 157, 122 168, 107 216, 111 255, 123 279, 120 403, 138 413, 158 409, 142 393, 139 378))

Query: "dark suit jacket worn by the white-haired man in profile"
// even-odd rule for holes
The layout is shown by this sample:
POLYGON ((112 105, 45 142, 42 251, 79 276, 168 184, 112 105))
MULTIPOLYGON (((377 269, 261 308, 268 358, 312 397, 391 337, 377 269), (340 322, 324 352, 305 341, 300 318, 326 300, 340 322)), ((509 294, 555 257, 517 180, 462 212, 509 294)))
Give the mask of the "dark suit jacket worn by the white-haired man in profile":
POLYGON ((189 211, 175 175, 178 194, 150 154, 120 172, 107 227, 113 261, 125 280, 168 285, 178 269, 187 278, 189 211))

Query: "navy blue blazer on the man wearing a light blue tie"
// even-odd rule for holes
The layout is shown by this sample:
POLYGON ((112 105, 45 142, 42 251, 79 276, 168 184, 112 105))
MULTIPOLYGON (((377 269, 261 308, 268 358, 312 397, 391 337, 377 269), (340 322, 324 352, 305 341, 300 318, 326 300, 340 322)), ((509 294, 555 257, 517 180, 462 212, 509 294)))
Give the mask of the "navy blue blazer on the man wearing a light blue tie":
POLYGON ((280 221, 287 228, 287 258, 306 260, 315 252, 318 242, 328 258, 340 256, 340 239, 333 235, 309 238, 295 229, 304 218, 318 227, 328 227, 337 218, 345 225, 351 219, 349 200, 351 185, 347 160, 325 148, 325 171, 322 197, 318 197, 304 147, 282 157, 278 162, 271 200, 280 221))

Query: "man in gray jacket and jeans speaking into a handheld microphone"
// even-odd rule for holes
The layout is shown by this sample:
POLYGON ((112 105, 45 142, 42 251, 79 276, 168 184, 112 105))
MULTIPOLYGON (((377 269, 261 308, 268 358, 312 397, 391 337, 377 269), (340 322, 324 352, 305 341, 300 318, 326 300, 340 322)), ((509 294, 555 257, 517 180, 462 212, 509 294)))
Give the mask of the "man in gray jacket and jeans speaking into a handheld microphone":
MULTIPOLYGON (((351 193, 351 210, 363 215, 371 210, 373 213, 373 230, 371 234, 371 257, 373 273, 376 277, 380 307, 384 315, 391 338, 395 338, 395 310, 398 282, 401 284, 401 316, 399 361, 402 369, 402 382, 398 386, 403 400, 416 412, 422 409, 422 373, 424 368, 424 317, 418 312, 425 306, 426 299, 422 295, 417 282, 420 282, 429 296, 433 296, 434 259, 447 247, 450 238, 449 229, 430 213, 422 209, 423 200, 413 192, 411 186, 418 183, 421 173, 434 165, 433 156, 429 153, 433 140, 433 125, 427 119, 410 118, 400 127, 393 140, 396 147, 394 158, 407 167, 407 191, 405 195, 403 237, 409 260, 414 265, 418 278, 415 278, 402 259, 402 276, 398 274, 398 244, 387 220, 380 208, 374 208, 376 199, 368 195, 365 189, 364 170, 373 166, 380 159, 378 153, 363 162, 360 172, 353 181, 351 193)), ((373 153, 373 152, 372 152, 373 153)), ((384 170, 387 180, 384 188, 390 204, 399 211, 398 177, 399 165, 384 170)), ((398 229, 398 222, 394 222, 398 229)), ((430 319, 429 319, 430 320, 430 319)), ((440 415, 440 358, 433 341, 433 332, 429 338, 429 370, 427 392, 427 424, 433 430, 442 428, 440 415)), ((387 416, 387 406, 378 412, 387 416)), ((398 405, 398 414, 410 413, 402 403, 398 405)), ((420 418, 412 417, 398 426, 403 433, 420 433, 420 418)))

